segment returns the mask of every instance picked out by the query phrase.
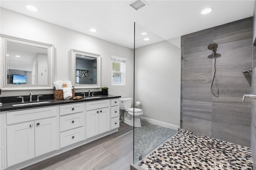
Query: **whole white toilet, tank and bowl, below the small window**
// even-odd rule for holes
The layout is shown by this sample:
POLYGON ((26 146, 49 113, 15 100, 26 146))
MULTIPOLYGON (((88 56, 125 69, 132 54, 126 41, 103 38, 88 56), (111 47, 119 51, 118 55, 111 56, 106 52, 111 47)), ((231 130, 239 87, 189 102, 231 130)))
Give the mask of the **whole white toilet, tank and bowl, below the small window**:
POLYGON ((130 108, 132 106, 132 98, 120 98, 120 110, 124 111, 124 123, 133 127, 141 127, 140 117, 143 112, 138 108, 130 108), (134 116, 133 116, 134 111, 134 116))

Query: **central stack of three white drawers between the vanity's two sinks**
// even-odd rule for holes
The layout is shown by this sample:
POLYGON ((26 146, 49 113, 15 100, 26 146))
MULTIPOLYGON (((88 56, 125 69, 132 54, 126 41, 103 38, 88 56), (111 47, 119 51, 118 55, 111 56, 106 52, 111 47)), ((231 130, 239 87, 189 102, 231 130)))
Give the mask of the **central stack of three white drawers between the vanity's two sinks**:
POLYGON ((84 103, 60 106, 60 148, 84 140, 84 103))

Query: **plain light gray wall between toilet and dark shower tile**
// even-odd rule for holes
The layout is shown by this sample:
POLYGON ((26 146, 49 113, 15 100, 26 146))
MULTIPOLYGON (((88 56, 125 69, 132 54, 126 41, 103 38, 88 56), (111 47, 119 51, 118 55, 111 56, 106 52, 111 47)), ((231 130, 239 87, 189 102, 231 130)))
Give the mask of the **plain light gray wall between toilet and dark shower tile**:
POLYGON ((163 41, 135 49, 135 101, 143 117, 180 127, 180 48, 163 41))

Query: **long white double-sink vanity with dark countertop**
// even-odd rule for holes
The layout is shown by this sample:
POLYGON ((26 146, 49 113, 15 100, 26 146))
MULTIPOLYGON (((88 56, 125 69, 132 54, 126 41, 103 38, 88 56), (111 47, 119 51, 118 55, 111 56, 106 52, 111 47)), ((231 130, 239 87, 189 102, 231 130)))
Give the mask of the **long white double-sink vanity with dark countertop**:
POLYGON ((108 95, 0 107, 0 167, 21 169, 118 131, 119 98, 108 95))

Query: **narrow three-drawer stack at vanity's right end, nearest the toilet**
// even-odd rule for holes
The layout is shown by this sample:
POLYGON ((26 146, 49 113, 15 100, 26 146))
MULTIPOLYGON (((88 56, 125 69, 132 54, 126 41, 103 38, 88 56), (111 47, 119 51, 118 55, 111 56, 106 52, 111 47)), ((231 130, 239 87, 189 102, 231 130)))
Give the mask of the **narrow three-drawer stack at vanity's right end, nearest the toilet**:
POLYGON ((119 98, 111 99, 111 130, 119 127, 119 98))

